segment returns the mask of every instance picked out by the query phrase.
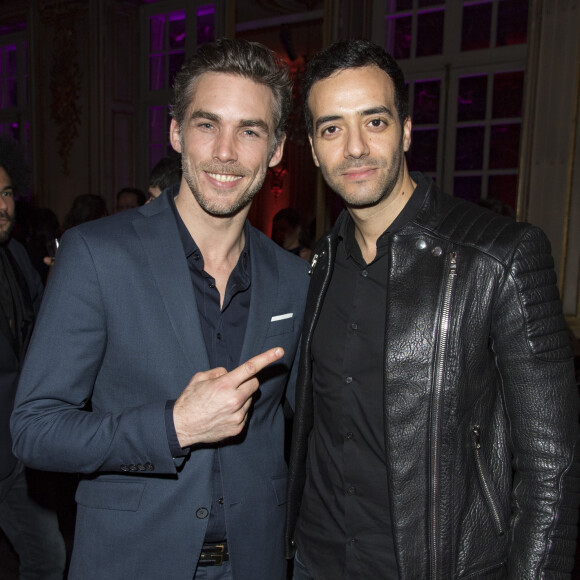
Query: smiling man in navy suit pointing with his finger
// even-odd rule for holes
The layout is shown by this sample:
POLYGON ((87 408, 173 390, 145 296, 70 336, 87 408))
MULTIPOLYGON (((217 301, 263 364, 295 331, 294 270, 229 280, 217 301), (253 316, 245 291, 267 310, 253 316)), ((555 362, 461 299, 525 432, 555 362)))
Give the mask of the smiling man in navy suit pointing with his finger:
POLYGON ((63 236, 12 433, 26 463, 82 474, 69 578, 285 577, 308 265, 246 217, 290 103, 264 46, 202 46, 175 80, 181 183, 63 236))

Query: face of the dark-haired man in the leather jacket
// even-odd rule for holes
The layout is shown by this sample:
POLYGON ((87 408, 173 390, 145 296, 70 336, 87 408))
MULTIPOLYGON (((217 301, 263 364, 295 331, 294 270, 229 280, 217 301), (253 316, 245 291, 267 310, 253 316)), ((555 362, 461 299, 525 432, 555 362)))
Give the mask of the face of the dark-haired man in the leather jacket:
POLYGON ((314 162, 328 185, 349 207, 388 203, 411 144, 411 120, 401 127, 389 76, 377 66, 344 69, 312 86, 308 107, 314 162))

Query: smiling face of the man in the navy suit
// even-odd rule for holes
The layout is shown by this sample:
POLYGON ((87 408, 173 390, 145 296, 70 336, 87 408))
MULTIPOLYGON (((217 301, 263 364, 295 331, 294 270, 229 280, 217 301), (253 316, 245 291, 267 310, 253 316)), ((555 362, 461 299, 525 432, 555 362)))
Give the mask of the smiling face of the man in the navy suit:
POLYGON ((182 130, 171 121, 171 144, 199 206, 233 216, 249 206, 268 167, 282 158, 284 140, 274 145, 274 96, 233 74, 204 73, 195 83, 182 130))

